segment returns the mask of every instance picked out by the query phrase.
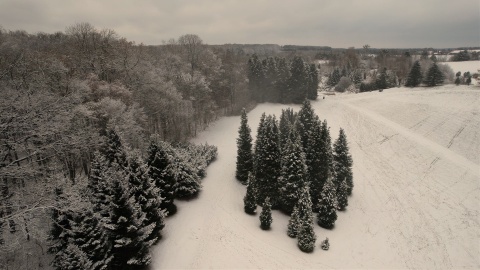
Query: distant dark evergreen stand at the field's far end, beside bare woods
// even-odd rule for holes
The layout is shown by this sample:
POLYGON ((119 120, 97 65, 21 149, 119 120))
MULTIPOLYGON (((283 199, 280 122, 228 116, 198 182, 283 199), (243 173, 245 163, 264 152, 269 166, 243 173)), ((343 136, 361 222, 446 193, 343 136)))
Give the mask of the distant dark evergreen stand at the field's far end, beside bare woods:
POLYGON ((257 102, 301 103, 318 96, 318 70, 299 56, 260 60, 253 54, 248 60, 248 88, 257 102))

